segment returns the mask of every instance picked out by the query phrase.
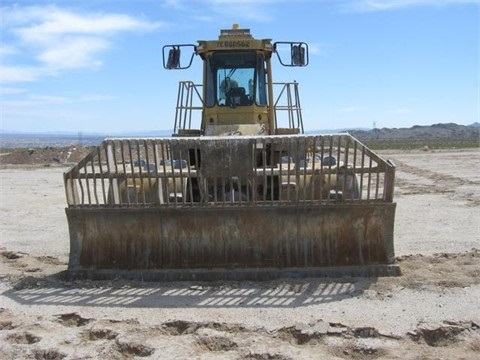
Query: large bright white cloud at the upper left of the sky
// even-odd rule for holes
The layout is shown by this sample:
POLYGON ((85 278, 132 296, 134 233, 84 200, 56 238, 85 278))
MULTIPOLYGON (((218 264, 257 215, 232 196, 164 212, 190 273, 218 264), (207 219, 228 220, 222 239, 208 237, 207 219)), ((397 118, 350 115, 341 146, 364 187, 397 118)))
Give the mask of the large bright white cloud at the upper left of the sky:
POLYGON ((153 31, 163 25, 123 14, 81 13, 56 6, 1 10, 2 82, 36 81, 68 69, 99 67, 100 55, 112 47, 114 35, 153 31))

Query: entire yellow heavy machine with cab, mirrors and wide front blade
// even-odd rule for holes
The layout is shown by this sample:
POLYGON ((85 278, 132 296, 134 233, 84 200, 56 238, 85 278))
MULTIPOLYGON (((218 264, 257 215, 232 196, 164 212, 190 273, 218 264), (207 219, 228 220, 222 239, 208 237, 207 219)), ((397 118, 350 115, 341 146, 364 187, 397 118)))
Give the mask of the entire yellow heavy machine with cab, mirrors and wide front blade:
POLYGON ((172 137, 107 138, 64 174, 73 278, 265 280, 395 275, 395 166, 348 133, 304 134, 308 45, 255 39, 166 45, 181 81, 172 137))

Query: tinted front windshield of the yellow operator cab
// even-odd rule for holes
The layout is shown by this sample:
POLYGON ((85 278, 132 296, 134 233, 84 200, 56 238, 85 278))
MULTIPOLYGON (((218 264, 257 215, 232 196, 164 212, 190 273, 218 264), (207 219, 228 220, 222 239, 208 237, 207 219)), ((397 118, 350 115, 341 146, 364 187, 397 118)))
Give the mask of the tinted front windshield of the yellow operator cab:
POLYGON ((264 57, 255 51, 216 52, 206 61, 207 107, 267 105, 264 57))

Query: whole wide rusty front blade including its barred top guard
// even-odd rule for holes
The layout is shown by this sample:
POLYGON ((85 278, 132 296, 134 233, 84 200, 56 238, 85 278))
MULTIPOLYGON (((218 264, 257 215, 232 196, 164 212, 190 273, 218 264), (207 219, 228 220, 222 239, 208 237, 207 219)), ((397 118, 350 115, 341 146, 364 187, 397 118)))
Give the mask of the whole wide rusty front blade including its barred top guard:
POLYGON ((348 134, 107 139, 64 174, 68 273, 398 275, 394 169, 348 134))

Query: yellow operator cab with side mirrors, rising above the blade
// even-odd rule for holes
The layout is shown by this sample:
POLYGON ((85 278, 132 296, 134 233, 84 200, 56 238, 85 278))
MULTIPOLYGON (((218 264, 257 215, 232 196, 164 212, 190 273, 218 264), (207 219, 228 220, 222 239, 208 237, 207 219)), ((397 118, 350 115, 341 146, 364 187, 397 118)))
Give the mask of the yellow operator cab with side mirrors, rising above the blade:
MULTIPOLYGON (((308 64, 307 44, 272 44, 271 39, 253 38, 249 29, 240 29, 236 24, 232 29, 221 30, 218 40, 199 40, 198 45, 165 45, 163 64, 166 69, 185 69, 190 67, 194 55, 202 58, 199 134, 273 135, 278 133, 271 68, 274 52, 284 66, 308 64), (188 52, 181 51, 191 47, 194 52, 188 58, 188 52), (285 52, 289 52, 289 63, 282 61, 280 53, 285 52)), ((177 103, 183 104, 182 99, 177 103)), ((187 127, 176 125, 177 133, 191 134, 191 129, 187 127)), ((292 129, 291 133, 296 132, 298 128, 292 129)))

